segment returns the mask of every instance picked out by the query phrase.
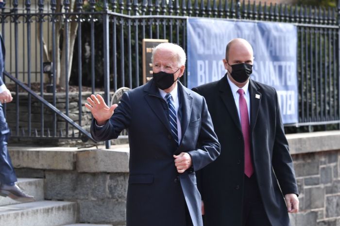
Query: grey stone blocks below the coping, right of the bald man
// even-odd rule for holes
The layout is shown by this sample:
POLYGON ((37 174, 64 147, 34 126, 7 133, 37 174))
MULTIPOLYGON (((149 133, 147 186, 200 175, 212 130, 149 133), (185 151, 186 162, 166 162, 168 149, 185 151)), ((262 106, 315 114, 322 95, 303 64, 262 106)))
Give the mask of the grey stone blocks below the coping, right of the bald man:
POLYGON ((340 151, 293 155, 301 194, 293 226, 340 226, 339 156, 340 151))

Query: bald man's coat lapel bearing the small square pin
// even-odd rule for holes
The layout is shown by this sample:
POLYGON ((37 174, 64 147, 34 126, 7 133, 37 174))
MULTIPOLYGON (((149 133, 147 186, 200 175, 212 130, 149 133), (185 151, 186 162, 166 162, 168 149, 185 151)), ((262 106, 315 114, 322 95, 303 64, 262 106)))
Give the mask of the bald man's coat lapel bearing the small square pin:
POLYGON ((261 93, 259 92, 259 87, 254 81, 249 80, 249 95, 250 95, 250 128, 253 132, 256 124, 258 110, 261 103, 261 93))

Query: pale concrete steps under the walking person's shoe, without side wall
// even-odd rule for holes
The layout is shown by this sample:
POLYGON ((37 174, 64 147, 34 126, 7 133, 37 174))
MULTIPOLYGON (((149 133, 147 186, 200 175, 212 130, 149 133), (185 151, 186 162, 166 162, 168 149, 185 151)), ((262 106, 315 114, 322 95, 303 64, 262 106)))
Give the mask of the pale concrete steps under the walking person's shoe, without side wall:
POLYGON ((44 179, 19 178, 17 182, 34 202, 19 203, 0 196, 1 226, 112 226, 75 224, 77 204, 68 201, 44 200, 44 179))

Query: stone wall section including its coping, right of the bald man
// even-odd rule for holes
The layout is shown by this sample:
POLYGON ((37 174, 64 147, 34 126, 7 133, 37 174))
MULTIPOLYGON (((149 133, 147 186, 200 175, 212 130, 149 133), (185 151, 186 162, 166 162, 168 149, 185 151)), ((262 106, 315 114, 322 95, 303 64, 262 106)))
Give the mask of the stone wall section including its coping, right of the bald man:
POLYGON ((287 137, 300 192, 292 226, 340 226, 340 132, 287 137))

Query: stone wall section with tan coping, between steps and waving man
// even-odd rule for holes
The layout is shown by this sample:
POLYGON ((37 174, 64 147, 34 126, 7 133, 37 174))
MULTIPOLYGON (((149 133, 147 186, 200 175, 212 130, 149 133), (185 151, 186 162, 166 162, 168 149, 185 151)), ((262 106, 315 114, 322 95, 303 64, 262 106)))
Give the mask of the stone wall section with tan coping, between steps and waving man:
POLYGON ((77 222, 125 226, 129 149, 10 147, 20 178, 44 178, 44 197, 77 203, 77 222))

